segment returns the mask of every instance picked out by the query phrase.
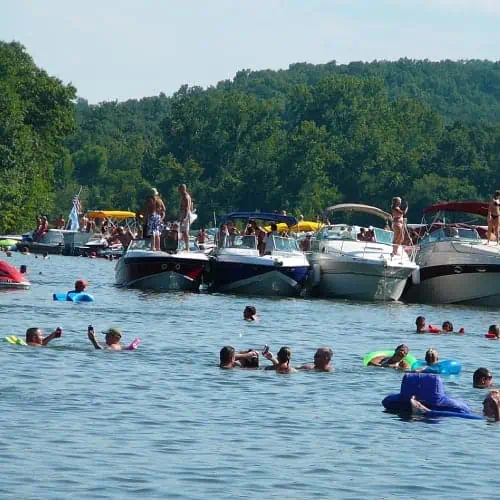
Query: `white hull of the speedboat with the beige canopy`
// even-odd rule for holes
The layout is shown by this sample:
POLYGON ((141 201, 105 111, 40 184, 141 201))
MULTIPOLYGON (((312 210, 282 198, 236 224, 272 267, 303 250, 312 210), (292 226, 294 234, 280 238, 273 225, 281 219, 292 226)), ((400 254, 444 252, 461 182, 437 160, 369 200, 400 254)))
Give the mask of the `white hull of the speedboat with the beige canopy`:
POLYGON ((354 260, 318 254, 311 263, 320 266, 316 293, 327 298, 399 300, 415 265, 394 265, 384 259, 354 260))

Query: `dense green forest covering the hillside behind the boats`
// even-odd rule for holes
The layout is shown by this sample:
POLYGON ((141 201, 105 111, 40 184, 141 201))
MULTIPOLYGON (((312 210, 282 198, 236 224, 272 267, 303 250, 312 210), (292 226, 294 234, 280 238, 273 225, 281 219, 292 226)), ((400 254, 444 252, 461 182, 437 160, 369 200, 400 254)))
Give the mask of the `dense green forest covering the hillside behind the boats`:
POLYGON ((154 186, 174 217, 185 182, 203 223, 235 209, 387 209, 395 195, 418 221, 430 203, 500 187, 499 62, 299 63, 171 97, 76 96, 0 42, 0 233, 66 214, 80 186, 86 208, 131 210, 154 186))

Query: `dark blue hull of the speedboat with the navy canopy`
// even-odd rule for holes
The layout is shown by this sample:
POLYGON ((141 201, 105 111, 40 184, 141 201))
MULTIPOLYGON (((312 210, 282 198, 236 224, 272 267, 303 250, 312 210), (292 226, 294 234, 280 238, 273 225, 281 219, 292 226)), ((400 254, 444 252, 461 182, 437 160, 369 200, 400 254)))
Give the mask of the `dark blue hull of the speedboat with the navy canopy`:
POLYGON ((269 263, 220 261, 211 262, 211 290, 262 296, 298 296, 304 289, 309 265, 286 266, 269 263))

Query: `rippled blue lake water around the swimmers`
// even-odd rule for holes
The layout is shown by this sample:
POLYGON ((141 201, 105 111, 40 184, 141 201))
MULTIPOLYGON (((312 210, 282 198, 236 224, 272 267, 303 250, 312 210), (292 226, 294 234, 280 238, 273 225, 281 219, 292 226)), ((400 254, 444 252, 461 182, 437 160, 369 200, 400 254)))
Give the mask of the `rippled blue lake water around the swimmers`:
MULTIPOLYGON (((494 378, 500 342, 483 338, 498 311, 462 307, 148 294, 113 286, 114 263, 16 254, 30 291, 0 294, 2 337, 60 325, 47 349, 0 344, 0 498, 484 498, 495 476, 500 425, 448 418, 405 421, 383 412, 401 374, 365 368, 365 353, 401 342, 458 359, 447 392, 479 410, 472 373, 494 378), (87 278, 96 302, 53 302, 87 278), (242 318, 254 304, 258 323, 242 318), (465 336, 416 335, 423 314, 465 336), (123 329, 135 352, 95 351, 87 325, 123 329), (335 372, 224 371, 219 349, 317 347, 335 372)), ((262 364, 267 364, 266 360, 262 364)))

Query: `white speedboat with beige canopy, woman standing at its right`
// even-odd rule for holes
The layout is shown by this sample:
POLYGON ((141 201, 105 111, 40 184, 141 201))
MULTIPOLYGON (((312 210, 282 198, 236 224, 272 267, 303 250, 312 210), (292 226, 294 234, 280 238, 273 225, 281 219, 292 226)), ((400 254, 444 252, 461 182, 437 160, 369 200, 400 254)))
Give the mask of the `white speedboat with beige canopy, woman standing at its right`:
MULTIPOLYGON (((356 212, 392 219, 369 205, 344 203, 326 209, 328 214, 356 212)), ((311 242, 313 292, 323 297, 359 300, 399 300, 409 276, 418 271, 413 249, 393 255, 393 232, 373 227, 369 240, 360 240, 361 226, 328 224, 311 242)), ((364 236, 363 236, 364 238, 364 236)))

